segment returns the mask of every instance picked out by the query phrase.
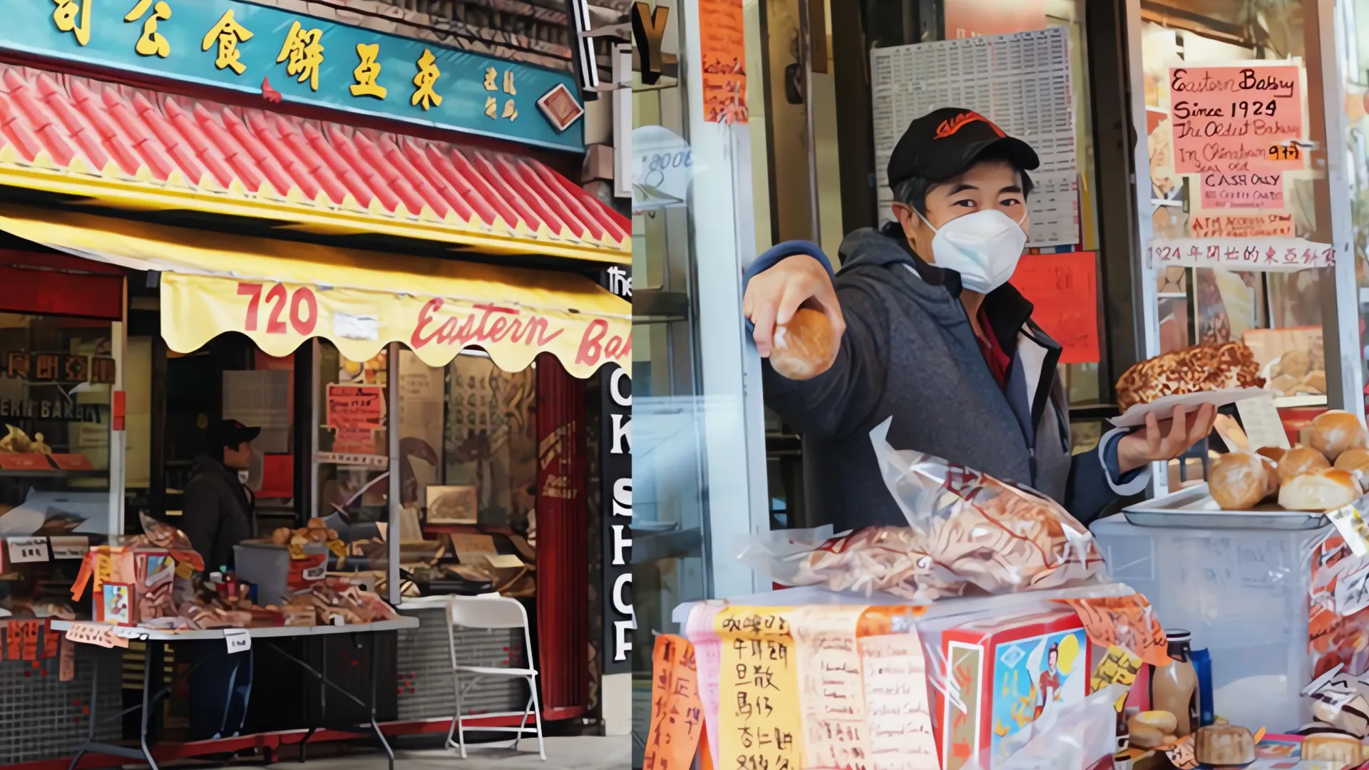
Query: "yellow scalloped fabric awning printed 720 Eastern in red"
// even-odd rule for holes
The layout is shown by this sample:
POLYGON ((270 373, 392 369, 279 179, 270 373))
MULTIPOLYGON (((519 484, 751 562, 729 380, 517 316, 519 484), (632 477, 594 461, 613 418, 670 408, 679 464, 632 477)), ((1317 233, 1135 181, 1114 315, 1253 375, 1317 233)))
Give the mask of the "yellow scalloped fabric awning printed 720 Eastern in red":
POLYGON ((0 230, 159 271, 162 337, 179 353, 240 332, 272 356, 323 337, 352 360, 402 343, 442 366, 479 347, 517 371, 549 352, 582 378, 631 356, 631 304, 579 275, 23 207, 5 210, 0 230))

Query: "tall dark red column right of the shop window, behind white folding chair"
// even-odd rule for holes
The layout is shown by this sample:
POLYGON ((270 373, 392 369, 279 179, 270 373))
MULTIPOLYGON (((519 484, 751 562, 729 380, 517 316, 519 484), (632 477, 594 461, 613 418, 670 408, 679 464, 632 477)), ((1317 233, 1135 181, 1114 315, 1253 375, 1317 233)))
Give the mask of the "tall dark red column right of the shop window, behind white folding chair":
POLYGON ((585 381, 556 356, 537 362, 537 636, 542 708, 589 696, 589 511, 585 503, 585 381))

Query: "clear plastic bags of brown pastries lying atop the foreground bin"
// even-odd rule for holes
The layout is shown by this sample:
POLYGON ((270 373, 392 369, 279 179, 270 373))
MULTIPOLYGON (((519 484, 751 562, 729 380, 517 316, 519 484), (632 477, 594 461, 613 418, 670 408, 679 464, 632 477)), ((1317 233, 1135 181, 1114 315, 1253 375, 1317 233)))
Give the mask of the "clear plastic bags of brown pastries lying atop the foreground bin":
POLYGON ((913 601, 1103 582, 1092 534, 1054 500, 871 432, 884 485, 908 526, 775 532, 741 559, 775 582, 873 591, 913 601))

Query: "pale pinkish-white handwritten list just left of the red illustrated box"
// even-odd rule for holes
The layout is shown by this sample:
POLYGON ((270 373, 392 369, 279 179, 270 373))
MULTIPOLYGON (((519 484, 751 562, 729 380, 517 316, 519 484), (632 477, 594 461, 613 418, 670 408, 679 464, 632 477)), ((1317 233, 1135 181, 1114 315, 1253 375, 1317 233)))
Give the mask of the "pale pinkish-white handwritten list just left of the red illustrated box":
POLYGON ((860 640, 872 770, 936 770, 927 660, 916 630, 860 640))

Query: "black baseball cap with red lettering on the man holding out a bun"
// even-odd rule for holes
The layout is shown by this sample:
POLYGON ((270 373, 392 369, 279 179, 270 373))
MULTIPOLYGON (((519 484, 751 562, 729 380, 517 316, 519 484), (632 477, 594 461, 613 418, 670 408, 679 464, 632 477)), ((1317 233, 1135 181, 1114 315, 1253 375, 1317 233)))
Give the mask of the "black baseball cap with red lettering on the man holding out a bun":
POLYGON ((917 118, 888 156, 888 186, 920 177, 939 182, 967 169, 988 149, 998 149, 1023 171, 1040 166, 1036 151, 1003 133, 972 110, 943 107, 917 118))

